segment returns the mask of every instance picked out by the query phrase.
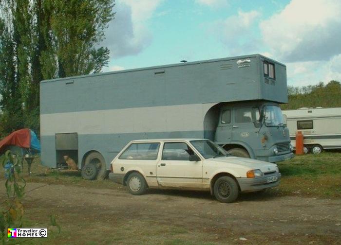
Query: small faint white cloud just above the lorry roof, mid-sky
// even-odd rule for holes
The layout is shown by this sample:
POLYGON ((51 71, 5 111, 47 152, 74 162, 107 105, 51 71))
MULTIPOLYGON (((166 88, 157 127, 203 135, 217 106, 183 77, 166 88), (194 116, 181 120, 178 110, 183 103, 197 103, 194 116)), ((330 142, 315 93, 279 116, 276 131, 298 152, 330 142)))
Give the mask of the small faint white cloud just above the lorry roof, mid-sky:
POLYGON ((214 22, 210 30, 214 35, 218 35, 231 55, 254 52, 258 50, 260 42, 252 34, 251 27, 260 16, 261 13, 256 10, 240 10, 237 15, 214 22))

